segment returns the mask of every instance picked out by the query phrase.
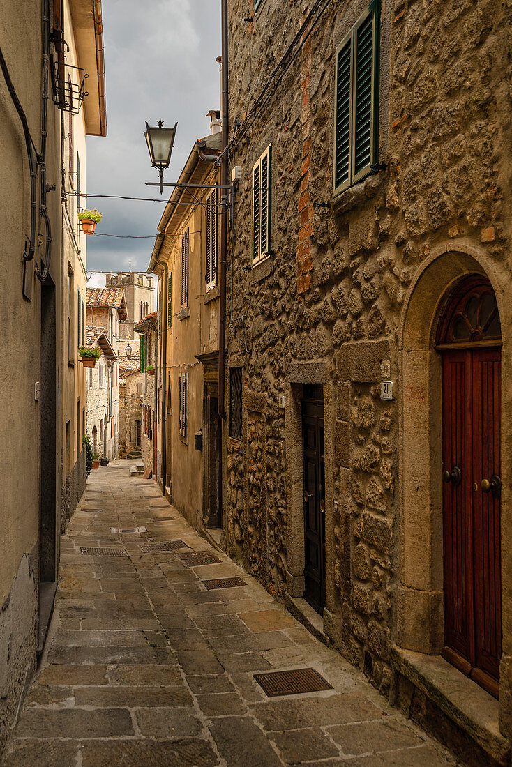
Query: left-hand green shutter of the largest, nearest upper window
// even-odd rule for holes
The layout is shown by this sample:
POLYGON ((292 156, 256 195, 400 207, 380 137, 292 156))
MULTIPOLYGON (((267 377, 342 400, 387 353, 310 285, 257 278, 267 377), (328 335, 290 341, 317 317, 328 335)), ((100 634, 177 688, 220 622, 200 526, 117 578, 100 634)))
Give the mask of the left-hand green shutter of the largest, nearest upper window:
POLYGON ((351 54, 352 35, 336 55, 335 189, 346 184, 350 178, 351 54))

